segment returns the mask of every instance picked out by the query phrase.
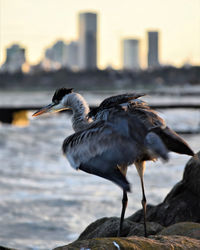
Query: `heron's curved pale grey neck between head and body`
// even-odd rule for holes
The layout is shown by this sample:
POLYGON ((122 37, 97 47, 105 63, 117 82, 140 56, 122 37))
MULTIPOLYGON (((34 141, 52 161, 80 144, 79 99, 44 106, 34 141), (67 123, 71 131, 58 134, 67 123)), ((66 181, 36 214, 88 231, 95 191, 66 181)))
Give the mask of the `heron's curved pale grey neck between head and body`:
POLYGON ((72 93, 68 98, 68 105, 72 108, 72 127, 75 132, 88 127, 90 120, 87 118, 87 114, 90 108, 85 99, 78 93, 72 93))

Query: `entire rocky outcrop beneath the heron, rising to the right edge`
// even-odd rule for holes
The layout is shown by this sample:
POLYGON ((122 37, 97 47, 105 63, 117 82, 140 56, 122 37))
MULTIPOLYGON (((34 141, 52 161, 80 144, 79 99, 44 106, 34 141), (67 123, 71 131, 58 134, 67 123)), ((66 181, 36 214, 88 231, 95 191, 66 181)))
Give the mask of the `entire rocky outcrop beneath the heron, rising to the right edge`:
POLYGON ((188 161, 183 179, 164 201, 148 205, 147 221, 149 238, 138 237, 144 235, 143 211, 139 210, 124 221, 122 236, 126 238, 116 237, 119 218, 102 218, 77 241, 56 249, 200 249, 200 224, 194 223, 200 222, 200 152, 188 161))

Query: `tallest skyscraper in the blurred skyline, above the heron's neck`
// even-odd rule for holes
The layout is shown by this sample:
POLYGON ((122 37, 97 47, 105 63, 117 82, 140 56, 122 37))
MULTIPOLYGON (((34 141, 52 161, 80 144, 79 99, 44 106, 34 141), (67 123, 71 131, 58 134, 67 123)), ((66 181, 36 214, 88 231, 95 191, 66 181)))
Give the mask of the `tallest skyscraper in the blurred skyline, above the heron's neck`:
POLYGON ((97 14, 79 14, 79 68, 97 68, 97 14))

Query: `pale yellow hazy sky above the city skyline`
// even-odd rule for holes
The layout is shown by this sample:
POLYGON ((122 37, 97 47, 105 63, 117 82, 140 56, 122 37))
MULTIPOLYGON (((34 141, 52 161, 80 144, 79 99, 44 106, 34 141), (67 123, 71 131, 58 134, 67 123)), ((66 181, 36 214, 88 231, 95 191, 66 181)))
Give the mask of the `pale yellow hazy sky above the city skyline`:
POLYGON ((58 39, 77 39, 80 11, 98 17, 98 65, 121 66, 121 39, 140 39, 146 65, 146 32, 160 31, 160 61, 200 65, 200 0, 0 0, 0 63, 5 48, 17 42, 37 63, 58 39))

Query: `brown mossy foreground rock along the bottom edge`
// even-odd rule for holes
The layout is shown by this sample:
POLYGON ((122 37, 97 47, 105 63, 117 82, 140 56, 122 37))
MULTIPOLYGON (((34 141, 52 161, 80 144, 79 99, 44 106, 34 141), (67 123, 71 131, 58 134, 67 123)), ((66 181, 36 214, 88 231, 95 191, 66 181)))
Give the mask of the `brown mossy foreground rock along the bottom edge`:
POLYGON ((200 241, 183 236, 152 236, 127 237, 127 238, 97 238, 75 241, 67 246, 57 247, 54 250, 125 250, 125 249, 149 249, 149 250, 197 250, 200 249, 200 241))

